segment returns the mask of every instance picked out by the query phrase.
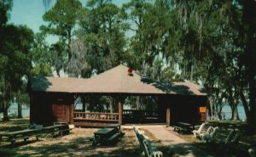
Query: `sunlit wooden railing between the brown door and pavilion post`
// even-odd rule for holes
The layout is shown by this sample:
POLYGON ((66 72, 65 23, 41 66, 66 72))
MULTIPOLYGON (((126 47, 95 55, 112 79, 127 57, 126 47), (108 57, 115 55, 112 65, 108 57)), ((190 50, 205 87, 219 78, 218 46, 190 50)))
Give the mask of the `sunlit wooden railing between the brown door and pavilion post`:
POLYGON ((118 122, 118 113, 102 113, 102 112, 73 112, 74 121, 109 121, 118 122))

